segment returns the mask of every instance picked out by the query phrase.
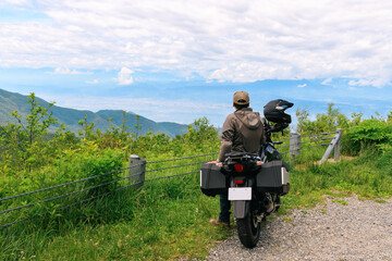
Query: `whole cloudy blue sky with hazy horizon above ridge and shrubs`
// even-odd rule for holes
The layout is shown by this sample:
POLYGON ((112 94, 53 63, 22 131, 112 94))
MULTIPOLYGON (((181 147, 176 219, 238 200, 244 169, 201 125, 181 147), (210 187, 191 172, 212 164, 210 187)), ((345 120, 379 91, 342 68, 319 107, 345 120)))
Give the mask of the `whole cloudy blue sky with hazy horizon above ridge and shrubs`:
POLYGON ((392 111, 392 1, 0 0, 0 88, 221 126, 236 90, 392 111))

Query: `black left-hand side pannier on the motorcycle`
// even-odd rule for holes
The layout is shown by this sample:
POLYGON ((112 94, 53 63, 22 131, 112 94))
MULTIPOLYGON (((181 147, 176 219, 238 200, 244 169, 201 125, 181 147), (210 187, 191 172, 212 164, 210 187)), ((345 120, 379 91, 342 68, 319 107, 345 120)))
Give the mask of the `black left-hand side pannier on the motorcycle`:
POLYGON ((216 196, 228 192, 226 177, 221 173, 221 167, 215 163, 201 165, 200 188, 207 196, 216 196))

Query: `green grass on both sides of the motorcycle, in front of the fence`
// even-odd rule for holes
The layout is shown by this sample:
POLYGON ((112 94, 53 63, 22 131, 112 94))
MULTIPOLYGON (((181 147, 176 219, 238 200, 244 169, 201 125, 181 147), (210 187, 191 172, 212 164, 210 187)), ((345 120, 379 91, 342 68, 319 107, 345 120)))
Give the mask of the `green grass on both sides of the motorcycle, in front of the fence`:
MULTIPOLYGON (((291 192, 283 197, 282 213, 291 208, 322 202, 323 195, 355 192, 363 198, 392 195, 389 158, 375 159, 369 152, 358 159, 308 165, 292 171, 291 192), (385 163, 385 164, 384 164, 385 163)), ((89 209, 89 224, 65 216, 60 227, 32 233, 20 228, 2 235, 0 259, 20 260, 175 260, 204 258, 215 241, 230 233, 210 226, 219 211, 218 198, 204 196, 197 176, 162 179, 146 184, 137 196, 118 195, 89 209), (75 225, 77 224, 77 225, 75 225), (22 253, 23 252, 23 253, 22 253)), ((84 221, 85 222, 85 221, 84 221)), ((56 222, 53 222, 56 224, 56 222)), ((34 226, 35 225, 35 226, 34 226)))

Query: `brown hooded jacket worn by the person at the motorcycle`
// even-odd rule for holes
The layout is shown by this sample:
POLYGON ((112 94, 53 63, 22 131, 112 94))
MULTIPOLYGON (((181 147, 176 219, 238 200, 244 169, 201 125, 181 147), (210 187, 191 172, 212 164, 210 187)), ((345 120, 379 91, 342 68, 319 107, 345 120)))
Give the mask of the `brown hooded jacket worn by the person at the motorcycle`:
POLYGON ((264 142, 266 135, 260 114, 250 108, 237 110, 223 123, 219 161, 224 161, 224 154, 231 151, 258 153, 264 142))

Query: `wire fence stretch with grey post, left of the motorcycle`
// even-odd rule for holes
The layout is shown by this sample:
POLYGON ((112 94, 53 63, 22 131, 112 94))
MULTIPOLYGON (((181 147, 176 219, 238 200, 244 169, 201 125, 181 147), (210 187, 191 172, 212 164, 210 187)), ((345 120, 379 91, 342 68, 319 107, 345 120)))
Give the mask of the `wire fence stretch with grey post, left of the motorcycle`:
POLYGON ((14 224, 52 214, 74 206, 109 196, 126 188, 138 187, 145 182, 198 173, 200 165, 213 160, 217 154, 218 153, 208 153, 150 162, 138 159, 136 161, 137 163, 130 164, 128 167, 1 198, 0 228, 7 228, 14 224), (175 165, 173 165, 174 163, 175 165), (146 166, 148 167, 146 169, 146 166), (117 176, 120 177, 90 185, 91 182, 94 184, 95 179, 111 177, 113 174, 118 174, 117 176), (108 187, 113 184, 117 186, 110 188, 108 187), (48 192, 50 192, 50 197, 47 197, 48 192), (41 209, 40 213, 32 214, 36 211, 34 209, 35 207, 41 209), (28 212, 29 209, 33 210, 28 212))

